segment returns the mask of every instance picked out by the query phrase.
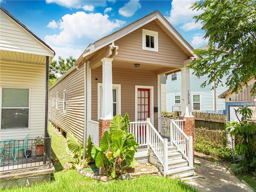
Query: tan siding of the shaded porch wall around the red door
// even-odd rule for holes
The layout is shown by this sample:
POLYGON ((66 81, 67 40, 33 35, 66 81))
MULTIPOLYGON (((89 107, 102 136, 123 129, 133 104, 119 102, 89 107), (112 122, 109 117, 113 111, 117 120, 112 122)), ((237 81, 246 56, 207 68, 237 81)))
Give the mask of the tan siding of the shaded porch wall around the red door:
MULTIPOLYGON (((127 112, 135 120, 135 85, 154 86, 154 106, 157 106, 157 75, 142 70, 112 68, 113 84, 121 84, 122 116, 127 112)), ((102 67, 92 70, 92 120, 98 120, 98 83, 102 83, 102 67), (97 79, 97 80, 96 80, 97 79)), ((154 113, 154 127, 158 127, 158 114, 154 113)))

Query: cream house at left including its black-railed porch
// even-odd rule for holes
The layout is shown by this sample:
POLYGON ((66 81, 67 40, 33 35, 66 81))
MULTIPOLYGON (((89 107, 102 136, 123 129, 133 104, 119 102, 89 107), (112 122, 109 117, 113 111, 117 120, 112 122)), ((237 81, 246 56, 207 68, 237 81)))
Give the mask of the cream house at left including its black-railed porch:
POLYGON ((8 188, 54 172, 47 111, 55 52, 2 7, 0 20, 0 182, 8 188), (38 136, 44 144, 39 155, 38 136))

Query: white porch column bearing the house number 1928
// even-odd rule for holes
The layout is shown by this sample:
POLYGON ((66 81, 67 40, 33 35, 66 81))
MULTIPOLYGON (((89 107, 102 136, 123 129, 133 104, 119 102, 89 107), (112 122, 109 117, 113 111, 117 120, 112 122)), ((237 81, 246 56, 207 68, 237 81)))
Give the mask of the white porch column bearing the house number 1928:
MULTIPOLYGON (((188 61, 188 60, 186 60, 188 61)), ((184 61, 184 62, 186 62, 184 61)), ((192 116, 189 68, 181 68, 181 116, 192 116)))

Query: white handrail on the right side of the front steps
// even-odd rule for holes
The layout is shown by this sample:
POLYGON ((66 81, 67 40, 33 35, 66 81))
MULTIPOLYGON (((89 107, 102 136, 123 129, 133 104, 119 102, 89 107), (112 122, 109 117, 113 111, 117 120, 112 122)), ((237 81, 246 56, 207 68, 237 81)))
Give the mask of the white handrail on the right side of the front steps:
POLYGON ((172 121, 171 130, 171 142, 188 161, 189 167, 193 167, 193 137, 187 136, 175 121, 172 121))

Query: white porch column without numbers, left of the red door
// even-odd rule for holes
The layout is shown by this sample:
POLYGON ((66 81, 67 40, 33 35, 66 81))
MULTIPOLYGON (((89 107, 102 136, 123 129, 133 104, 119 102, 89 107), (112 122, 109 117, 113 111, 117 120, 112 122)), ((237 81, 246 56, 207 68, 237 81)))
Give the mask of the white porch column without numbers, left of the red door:
POLYGON ((112 58, 104 57, 102 61, 102 118, 113 118, 113 92, 112 92, 112 58))

